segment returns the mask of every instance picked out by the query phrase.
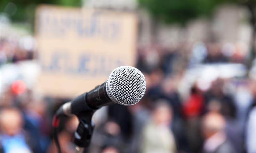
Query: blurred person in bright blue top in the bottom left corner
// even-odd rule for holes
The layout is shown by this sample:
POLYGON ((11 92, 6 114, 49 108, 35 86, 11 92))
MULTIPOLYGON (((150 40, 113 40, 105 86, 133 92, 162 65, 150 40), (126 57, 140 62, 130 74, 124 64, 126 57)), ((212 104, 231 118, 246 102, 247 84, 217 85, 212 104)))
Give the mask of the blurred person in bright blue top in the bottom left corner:
POLYGON ((22 129, 23 122, 18 109, 6 107, 0 110, 1 153, 32 153, 29 136, 22 129))

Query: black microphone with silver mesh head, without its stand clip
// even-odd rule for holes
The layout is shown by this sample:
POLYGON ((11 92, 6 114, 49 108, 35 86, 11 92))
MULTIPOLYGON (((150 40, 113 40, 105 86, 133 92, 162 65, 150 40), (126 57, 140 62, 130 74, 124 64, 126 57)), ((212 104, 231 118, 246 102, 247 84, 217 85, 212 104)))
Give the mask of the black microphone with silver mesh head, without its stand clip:
POLYGON ((132 66, 120 66, 111 72, 106 82, 63 104, 56 115, 78 115, 111 104, 134 105, 145 91, 146 80, 140 70, 132 66))

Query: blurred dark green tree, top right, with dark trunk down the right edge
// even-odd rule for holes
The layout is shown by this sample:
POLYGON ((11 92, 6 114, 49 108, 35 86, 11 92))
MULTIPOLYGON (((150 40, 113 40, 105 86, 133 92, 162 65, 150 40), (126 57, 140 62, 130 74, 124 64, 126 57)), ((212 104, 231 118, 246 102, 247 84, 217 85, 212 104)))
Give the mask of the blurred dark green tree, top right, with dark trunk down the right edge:
POLYGON ((140 6, 146 8, 153 18, 166 23, 186 23, 200 16, 211 16, 216 6, 223 3, 244 5, 250 12, 252 33, 252 57, 256 52, 256 0, 138 0, 140 6))

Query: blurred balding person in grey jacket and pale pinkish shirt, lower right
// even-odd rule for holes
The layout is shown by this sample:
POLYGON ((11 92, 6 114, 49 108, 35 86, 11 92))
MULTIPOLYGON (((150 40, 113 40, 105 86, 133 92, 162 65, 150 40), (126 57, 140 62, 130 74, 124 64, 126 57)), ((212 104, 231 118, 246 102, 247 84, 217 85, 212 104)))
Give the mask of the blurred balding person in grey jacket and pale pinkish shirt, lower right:
POLYGON ((202 120, 203 153, 234 153, 225 132, 226 121, 220 113, 207 113, 202 120))

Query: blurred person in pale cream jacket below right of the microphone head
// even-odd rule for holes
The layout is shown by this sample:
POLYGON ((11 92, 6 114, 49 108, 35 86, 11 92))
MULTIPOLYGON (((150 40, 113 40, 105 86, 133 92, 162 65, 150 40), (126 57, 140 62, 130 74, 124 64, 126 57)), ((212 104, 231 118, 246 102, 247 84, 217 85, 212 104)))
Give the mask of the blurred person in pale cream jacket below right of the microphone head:
POLYGON ((171 131, 172 108, 168 103, 158 101, 151 120, 142 133, 142 153, 175 153, 176 143, 171 131))

